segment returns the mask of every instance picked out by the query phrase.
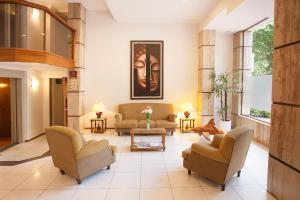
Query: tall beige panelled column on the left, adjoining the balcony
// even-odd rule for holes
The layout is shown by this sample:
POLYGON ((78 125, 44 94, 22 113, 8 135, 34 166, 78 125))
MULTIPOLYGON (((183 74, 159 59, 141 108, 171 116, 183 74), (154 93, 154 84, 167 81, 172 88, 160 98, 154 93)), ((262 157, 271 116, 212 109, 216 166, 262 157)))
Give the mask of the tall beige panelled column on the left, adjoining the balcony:
POLYGON ((76 30, 74 37, 75 67, 70 71, 77 72, 77 80, 68 77, 68 127, 80 131, 80 118, 84 114, 83 78, 85 71, 85 8, 80 3, 68 4, 68 23, 76 30))

